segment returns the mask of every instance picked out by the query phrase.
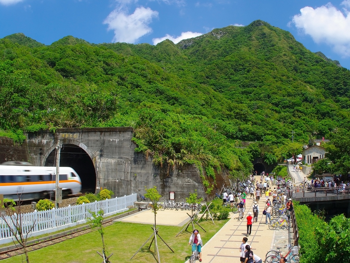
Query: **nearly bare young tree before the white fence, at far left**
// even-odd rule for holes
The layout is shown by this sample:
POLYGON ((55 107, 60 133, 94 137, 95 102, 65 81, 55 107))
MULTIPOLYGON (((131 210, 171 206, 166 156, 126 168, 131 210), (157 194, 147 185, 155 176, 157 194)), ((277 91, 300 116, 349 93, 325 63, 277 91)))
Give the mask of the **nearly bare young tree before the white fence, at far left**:
POLYGON ((15 201, 13 201, 12 199, 5 198, 3 200, 3 203, 6 203, 6 205, 2 205, 2 207, 5 208, 5 211, 3 211, 3 213, 0 214, 0 217, 3 220, 3 222, 6 223, 10 233, 12 234, 14 238, 13 242, 16 248, 24 252, 26 256, 26 261, 27 263, 29 263, 27 241, 30 236, 30 233, 34 230, 36 221, 34 220, 33 222, 23 222, 23 214, 21 211, 21 195, 18 196, 18 199, 19 201, 16 207, 15 201), (23 229, 25 229, 24 232, 23 229))

